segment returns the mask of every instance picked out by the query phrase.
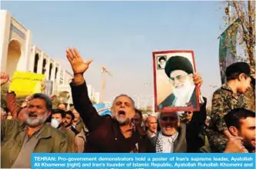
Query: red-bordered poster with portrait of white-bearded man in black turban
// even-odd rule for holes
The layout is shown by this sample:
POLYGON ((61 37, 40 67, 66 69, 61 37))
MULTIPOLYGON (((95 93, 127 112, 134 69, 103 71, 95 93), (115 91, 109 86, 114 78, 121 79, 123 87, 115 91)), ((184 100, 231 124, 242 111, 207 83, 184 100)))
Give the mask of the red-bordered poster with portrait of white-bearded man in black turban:
POLYGON ((155 111, 199 111, 199 89, 194 85, 194 51, 154 51, 155 111), (165 58, 165 68, 159 60, 165 58))

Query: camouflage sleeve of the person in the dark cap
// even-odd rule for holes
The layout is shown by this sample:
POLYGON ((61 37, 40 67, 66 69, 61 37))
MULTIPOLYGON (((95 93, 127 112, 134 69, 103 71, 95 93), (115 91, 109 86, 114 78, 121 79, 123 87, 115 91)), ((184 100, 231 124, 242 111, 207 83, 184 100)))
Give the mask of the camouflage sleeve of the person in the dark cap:
POLYGON ((211 116, 212 122, 217 127, 218 131, 228 130, 228 127, 224 121, 224 92, 221 89, 218 89, 214 92, 211 103, 211 116))

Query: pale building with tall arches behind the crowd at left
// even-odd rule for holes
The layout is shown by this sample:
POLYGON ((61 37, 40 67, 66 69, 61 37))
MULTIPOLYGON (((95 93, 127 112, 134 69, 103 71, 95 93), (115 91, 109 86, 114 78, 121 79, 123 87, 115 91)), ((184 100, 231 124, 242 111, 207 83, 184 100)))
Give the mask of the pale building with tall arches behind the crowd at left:
POLYGON ((59 91, 71 93, 69 83, 73 75, 45 51, 32 45, 32 31, 13 18, 8 11, 1 10, 0 15, 1 71, 8 73, 10 77, 15 71, 44 74, 47 94, 59 91))

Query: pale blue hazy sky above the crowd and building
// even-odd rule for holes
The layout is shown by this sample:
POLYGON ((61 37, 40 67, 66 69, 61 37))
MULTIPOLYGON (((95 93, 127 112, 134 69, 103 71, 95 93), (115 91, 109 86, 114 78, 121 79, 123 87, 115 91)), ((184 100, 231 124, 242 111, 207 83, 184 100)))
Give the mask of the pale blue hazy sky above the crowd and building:
MULTIPOLYGON (((101 91, 101 65, 109 101, 121 93, 153 94, 151 52, 194 50, 204 96, 221 85, 218 35, 224 25, 223 2, 2 2, 18 22, 32 31, 32 42, 70 70, 65 49, 78 48, 94 62, 86 81, 101 91), (145 85, 149 83, 150 85, 145 85)), ((209 101, 211 102, 211 101, 209 101)))

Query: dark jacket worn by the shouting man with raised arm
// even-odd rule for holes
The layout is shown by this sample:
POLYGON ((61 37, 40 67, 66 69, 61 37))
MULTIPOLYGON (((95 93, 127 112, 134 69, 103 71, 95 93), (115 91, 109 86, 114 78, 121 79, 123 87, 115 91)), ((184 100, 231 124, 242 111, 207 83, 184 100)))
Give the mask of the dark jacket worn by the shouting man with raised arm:
POLYGON ((136 128, 131 138, 125 138, 121 134, 118 121, 110 116, 100 116, 88 98, 85 83, 70 85, 75 109, 80 113, 89 131, 86 152, 128 153, 135 150, 135 147, 138 147, 138 152, 141 153, 155 152, 148 134, 142 128, 136 128))

